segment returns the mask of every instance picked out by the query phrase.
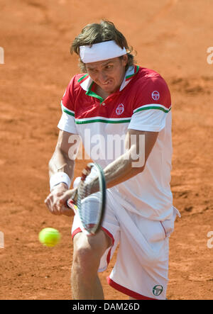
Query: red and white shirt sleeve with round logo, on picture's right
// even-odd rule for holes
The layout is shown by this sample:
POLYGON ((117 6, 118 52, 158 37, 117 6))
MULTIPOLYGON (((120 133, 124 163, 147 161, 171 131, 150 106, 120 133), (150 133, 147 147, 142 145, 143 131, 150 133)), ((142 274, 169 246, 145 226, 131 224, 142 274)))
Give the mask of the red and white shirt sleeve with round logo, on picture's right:
POLYGON ((138 85, 129 128, 160 132, 171 109, 170 91, 162 77, 149 77, 138 85))

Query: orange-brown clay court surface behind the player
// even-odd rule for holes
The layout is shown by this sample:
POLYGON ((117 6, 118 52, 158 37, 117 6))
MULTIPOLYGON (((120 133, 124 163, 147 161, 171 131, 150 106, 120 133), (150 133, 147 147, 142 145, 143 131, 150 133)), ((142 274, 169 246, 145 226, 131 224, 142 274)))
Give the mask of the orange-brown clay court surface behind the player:
MULTIPOLYGON (((171 187, 182 218, 170 238, 168 299, 212 299, 212 13, 211 0, 1 1, 0 299, 72 299, 72 218, 51 215, 43 201, 60 99, 79 72, 70 43, 102 18, 116 24, 137 51, 138 65, 159 72, 172 94, 171 187), (60 245, 40 245, 45 227, 60 230, 60 245)), ((84 164, 77 161, 75 176, 84 164)), ((114 261, 101 274, 105 298, 126 299, 107 285, 114 261)))

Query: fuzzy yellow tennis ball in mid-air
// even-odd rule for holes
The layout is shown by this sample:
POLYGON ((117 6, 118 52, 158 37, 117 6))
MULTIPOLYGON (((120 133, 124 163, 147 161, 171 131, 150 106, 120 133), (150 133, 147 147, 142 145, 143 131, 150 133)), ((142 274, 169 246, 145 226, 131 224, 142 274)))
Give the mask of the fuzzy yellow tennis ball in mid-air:
POLYGON ((39 232, 38 239, 46 247, 55 247, 60 242, 60 232, 54 228, 44 228, 39 232))

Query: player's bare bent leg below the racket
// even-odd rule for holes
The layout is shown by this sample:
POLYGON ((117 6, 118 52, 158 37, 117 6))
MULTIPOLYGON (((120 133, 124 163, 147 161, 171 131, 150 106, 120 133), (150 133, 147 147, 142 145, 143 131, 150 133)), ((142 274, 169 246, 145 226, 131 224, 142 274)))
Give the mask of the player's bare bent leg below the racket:
POLYGON ((71 274, 73 299, 104 299, 97 271, 100 259, 109 246, 111 239, 102 230, 97 235, 89 237, 82 232, 75 235, 71 274))

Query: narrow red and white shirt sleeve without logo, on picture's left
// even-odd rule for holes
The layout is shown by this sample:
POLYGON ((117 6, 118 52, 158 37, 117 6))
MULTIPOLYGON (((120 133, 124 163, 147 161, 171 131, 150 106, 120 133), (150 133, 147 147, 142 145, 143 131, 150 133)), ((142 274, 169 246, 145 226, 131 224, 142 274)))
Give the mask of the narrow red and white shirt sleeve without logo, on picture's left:
POLYGON ((60 130, 68 133, 78 134, 75 125, 75 77, 73 77, 67 86, 64 96, 61 100, 62 116, 58 123, 60 130))

